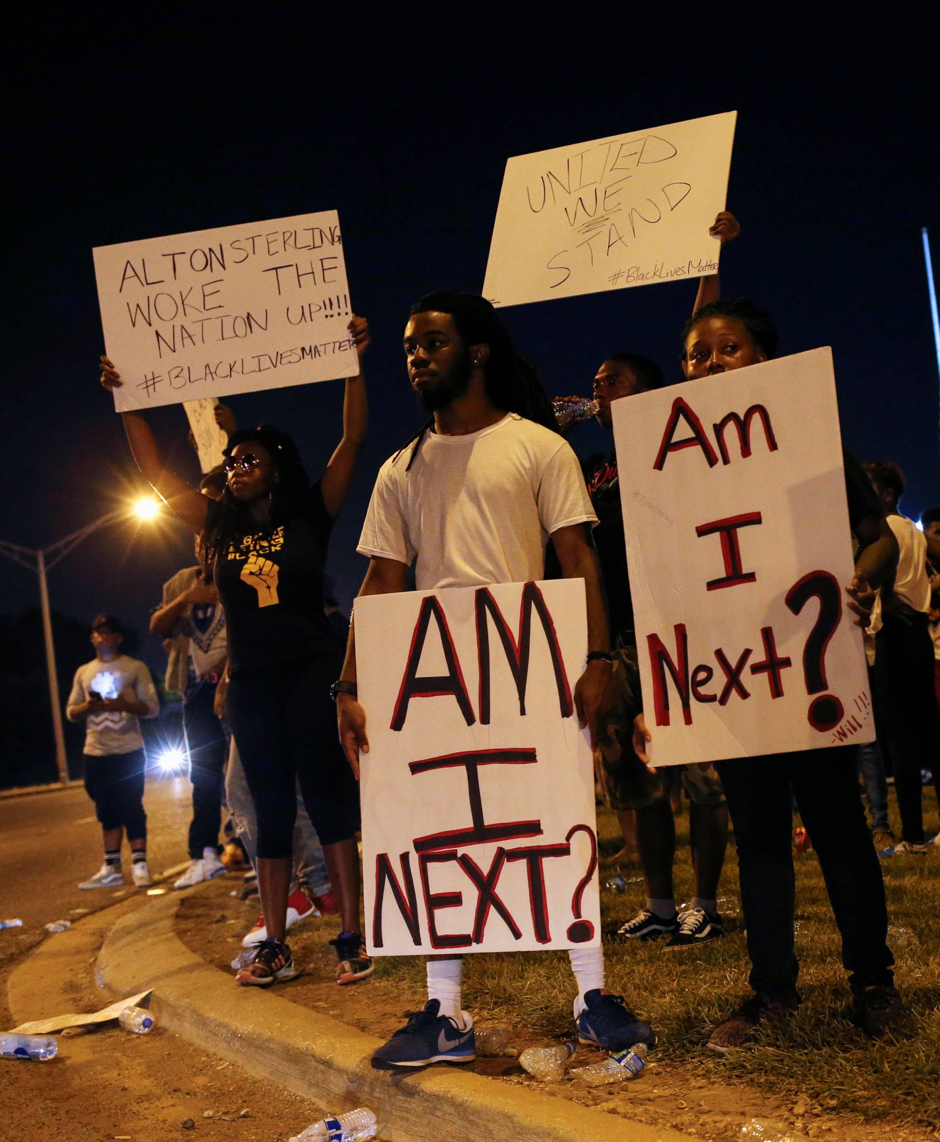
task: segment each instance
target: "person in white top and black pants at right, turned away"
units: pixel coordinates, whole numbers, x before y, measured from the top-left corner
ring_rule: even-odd
[[[930,578],[927,541],[898,510],[905,475],[890,460],[865,465],[871,485],[884,504],[887,524],[900,555],[894,584],[882,588],[871,614],[875,634],[875,685],[879,730],[894,766],[894,791],[901,814],[902,839],[879,856],[924,855],[930,852],[924,833],[922,771],[933,773],[940,802],[940,714],[933,687],[933,641],[930,635]]]

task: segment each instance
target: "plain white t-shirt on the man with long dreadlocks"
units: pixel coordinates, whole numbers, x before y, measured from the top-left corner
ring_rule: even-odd
[[[595,524],[557,433],[514,412],[466,436],[427,433],[379,469],[356,548],[411,565],[418,590],[541,579],[548,537]]]

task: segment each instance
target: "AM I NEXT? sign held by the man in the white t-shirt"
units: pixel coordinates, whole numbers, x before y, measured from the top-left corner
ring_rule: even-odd
[[[373,956],[600,943],[584,581],[356,600]]]

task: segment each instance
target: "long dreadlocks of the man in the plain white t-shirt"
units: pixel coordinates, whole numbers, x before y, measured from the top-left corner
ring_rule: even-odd
[[[433,293],[425,293],[411,306],[409,316],[413,317],[417,313],[450,314],[465,348],[469,345],[489,345],[490,355],[483,365],[483,376],[487,396],[498,409],[516,412],[553,432],[559,431],[552,402],[545,395],[533,365],[519,356],[508,329],[484,297],[452,289],[435,290]],[[433,427],[432,418],[397,453],[401,455],[409,444],[413,445],[405,472],[410,471],[421,442]]]

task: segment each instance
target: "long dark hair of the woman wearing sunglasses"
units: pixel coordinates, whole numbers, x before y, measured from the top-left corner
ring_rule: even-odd
[[[294,437],[286,432],[273,425],[239,428],[228,437],[224,455],[231,456],[236,445],[249,442],[265,449],[278,474],[278,481],[271,491],[271,514],[265,524],[267,531],[274,531],[292,515],[306,509],[310,481]],[[247,505],[235,499],[226,482],[222,499],[210,505],[200,537],[207,565],[214,566],[233,541],[238,542],[243,536],[255,534],[257,531],[257,520],[252,518]]]

